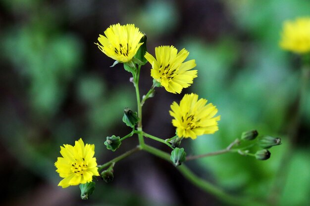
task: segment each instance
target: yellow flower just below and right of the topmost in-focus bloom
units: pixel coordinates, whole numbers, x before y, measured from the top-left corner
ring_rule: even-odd
[[[151,76],[171,93],[181,93],[197,77],[197,70],[189,71],[196,67],[195,60],[183,63],[189,52],[185,48],[177,52],[174,46],[158,46],[155,47],[156,59],[148,52],[145,54],[152,65]]]

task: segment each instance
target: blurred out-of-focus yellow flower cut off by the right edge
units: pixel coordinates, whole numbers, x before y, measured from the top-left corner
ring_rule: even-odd
[[[285,21],[283,24],[280,46],[284,50],[295,53],[310,51],[310,17],[297,18],[295,21]]]

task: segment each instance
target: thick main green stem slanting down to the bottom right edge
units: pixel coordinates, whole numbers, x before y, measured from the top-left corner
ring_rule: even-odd
[[[164,159],[171,163],[170,161],[170,155],[166,152],[163,152],[161,150],[158,150],[152,146],[144,145],[142,150],[147,151],[161,159]],[[187,166],[181,165],[176,167],[183,176],[189,180],[192,184],[199,187],[200,189],[204,190],[207,193],[213,194],[216,196],[219,200],[222,200],[230,205],[236,205],[236,206],[263,206],[263,204],[257,203],[251,199],[241,198],[241,197],[234,197],[227,193],[225,193],[220,188],[210,184],[206,180],[198,177],[196,174],[194,174]]]

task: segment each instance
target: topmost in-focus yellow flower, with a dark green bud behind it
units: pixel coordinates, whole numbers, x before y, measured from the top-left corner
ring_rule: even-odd
[[[134,24],[111,25],[104,31],[104,35],[99,35],[95,43],[98,48],[108,57],[118,62],[129,62],[137,53],[143,43],[139,43],[143,34]]]

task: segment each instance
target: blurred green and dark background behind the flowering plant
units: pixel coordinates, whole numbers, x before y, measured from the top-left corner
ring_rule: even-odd
[[[94,44],[115,23],[144,31],[152,54],[155,46],[175,45],[197,61],[199,76],[191,87],[181,95],[157,88],[147,101],[148,133],[173,136],[169,106],[195,92],[217,106],[221,121],[214,135],[184,140],[187,154],[225,148],[254,128],[283,142],[270,149],[268,161],[224,154],[187,163],[196,174],[231,194],[280,206],[310,205],[310,104],[303,107],[286,157],[301,65],[278,46],[282,22],[305,15],[306,0],[1,0],[0,205],[226,205],[145,152],[117,163],[113,182],[98,179],[88,201],[80,199],[78,187],[57,187],[61,178],[53,164],[60,145],[83,137],[96,145],[102,164],[138,142],[129,138],[115,153],[103,145],[106,136],[130,132],[121,121],[123,109],[136,107],[130,74],[122,65],[109,68],[113,60]],[[150,69],[143,67],[142,93],[152,85]]]

